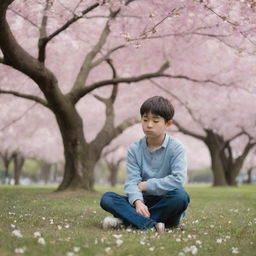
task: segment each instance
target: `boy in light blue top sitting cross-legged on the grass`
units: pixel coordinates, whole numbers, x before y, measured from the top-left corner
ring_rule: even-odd
[[[100,205],[113,217],[103,220],[103,228],[122,224],[145,230],[176,227],[189,204],[183,189],[187,173],[183,146],[166,134],[172,124],[174,108],[161,96],[146,100],[141,108],[141,124],[145,137],[133,143],[127,155],[127,196],[105,193]]]

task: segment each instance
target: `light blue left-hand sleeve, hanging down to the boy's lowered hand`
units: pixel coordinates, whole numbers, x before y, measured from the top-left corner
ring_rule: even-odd
[[[127,154],[127,178],[124,184],[124,192],[128,196],[128,200],[131,205],[133,205],[133,203],[138,199],[144,202],[142,192],[137,185],[141,180],[141,170],[137,163],[135,154],[130,147]]]

